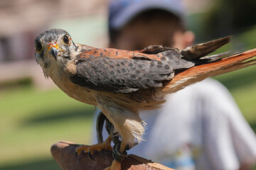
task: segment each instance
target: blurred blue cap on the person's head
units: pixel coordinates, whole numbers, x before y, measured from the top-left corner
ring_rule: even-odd
[[[109,8],[109,27],[122,28],[134,16],[151,9],[169,11],[185,23],[186,14],[181,0],[112,0]]]

